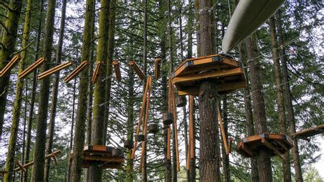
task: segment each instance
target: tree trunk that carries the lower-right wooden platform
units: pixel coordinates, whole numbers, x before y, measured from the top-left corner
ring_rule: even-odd
[[[262,75],[260,60],[258,57],[258,47],[256,36],[253,35],[246,40],[247,59],[249,62],[249,77],[251,79],[252,107],[254,114],[254,126],[257,135],[267,133],[267,118],[265,116],[265,99],[262,93]],[[271,158],[266,148],[260,148],[258,151],[258,174],[260,181],[272,181]]]

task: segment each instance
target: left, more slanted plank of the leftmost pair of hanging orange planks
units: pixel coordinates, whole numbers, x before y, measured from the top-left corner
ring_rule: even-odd
[[[151,77],[149,77],[149,78],[151,78]],[[134,146],[133,146],[131,159],[135,159],[135,151],[136,151],[136,148],[137,148],[137,142],[141,142],[141,141],[144,140],[144,139],[141,140],[141,141],[137,140],[137,139],[139,139],[139,138],[137,138],[137,135],[139,135],[139,132],[141,131],[141,120],[143,119],[143,116],[144,116],[144,109],[145,109],[145,106],[146,106],[146,102],[147,102],[146,100],[148,98],[148,94],[150,94],[150,93],[148,93],[148,91],[149,91],[148,88],[150,86],[150,81],[152,81],[152,79],[147,79],[147,81],[146,81],[146,88],[144,90],[143,101],[141,103],[141,112],[139,112],[139,121],[138,121],[138,124],[137,124],[136,134],[134,136],[135,142],[134,142]],[[143,137],[141,137],[141,138],[143,138]],[[145,136],[144,136],[144,138],[145,138]]]

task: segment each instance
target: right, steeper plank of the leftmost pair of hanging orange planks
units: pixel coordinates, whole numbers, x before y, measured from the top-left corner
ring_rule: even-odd
[[[141,142],[141,161],[139,162],[139,172],[141,172],[141,168],[143,167],[144,162],[144,154],[146,150],[146,135],[147,135],[147,127],[148,127],[148,109],[150,107],[150,95],[151,95],[151,87],[152,87],[152,77],[148,77],[148,99],[146,100],[146,112],[145,112],[145,119],[143,123],[143,134],[144,134],[144,141]]]

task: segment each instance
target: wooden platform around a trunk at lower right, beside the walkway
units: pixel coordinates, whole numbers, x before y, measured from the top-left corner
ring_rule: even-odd
[[[267,148],[271,156],[284,158],[284,153],[293,148],[293,140],[287,135],[262,133],[243,138],[237,144],[237,152],[243,157],[256,157],[260,148]]]

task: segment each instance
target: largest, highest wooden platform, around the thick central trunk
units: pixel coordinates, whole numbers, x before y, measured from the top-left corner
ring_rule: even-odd
[[[241,62],[223,55],[208,55],[185,60],[172,73],[172,81],[178,95],[198,95],[200,83],[213,79],[219,94],[227,94],[245,87],[245,77]]]

